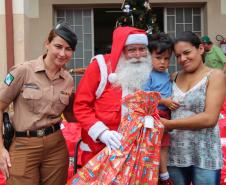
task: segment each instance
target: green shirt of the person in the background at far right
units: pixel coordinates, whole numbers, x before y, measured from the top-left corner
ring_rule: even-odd
[[[213,45],[209,52],[205,53],[205,64],[211,68],[223,69],[226,63],[226,56],[221,48]]]

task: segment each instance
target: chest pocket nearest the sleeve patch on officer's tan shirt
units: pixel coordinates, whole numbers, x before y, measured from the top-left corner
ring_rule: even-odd
[[[42,91],[34,88],[24,88],[22,97],[26,102],[29,110],[34,113],[39,113],[41,109]]]

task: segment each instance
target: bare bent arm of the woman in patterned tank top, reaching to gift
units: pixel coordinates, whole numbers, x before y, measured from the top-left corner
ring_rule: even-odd
[[[168,129],[193,130],[214,127],[217,124],[225,95],[226,81],[224,74],[220,70],[214,70],[208,81],[204,112],[178,120],[166,120],[161,118],[161,121]]]

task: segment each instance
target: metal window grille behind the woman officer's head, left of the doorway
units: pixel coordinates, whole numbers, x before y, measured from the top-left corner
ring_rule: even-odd
[[[56,25],[59,21],[69,23],[78,37],[76,51],[66,68],[73,70],[88,66],[94,55],[93,9],[56,8],[54,24]],[[77,87],[82,74],[72,73],[72,76]]]

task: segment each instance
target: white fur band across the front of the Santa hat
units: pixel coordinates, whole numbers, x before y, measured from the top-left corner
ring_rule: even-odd
[[[144,44],[148,45],[148,37],[145,34],[130,34],[126,40],[125,45],[129,44]]]

